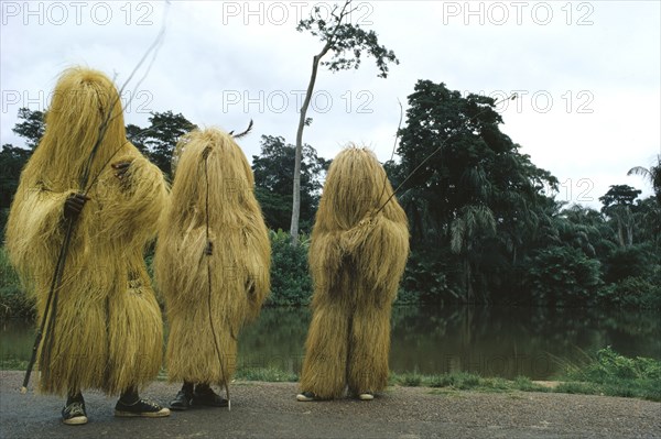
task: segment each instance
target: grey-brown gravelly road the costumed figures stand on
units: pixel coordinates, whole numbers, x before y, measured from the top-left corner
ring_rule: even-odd
[[[433,393],[391,387],[372,402],[295,400],[296,384],[231,386],[231,411],[115,418],[116,399],[85,394],[85,426],[59,421],[59,397],[21,395],[22,372],[0,372],[0,438],[661,438],[661,404],[545,393]],[[143,396],[166,403],[178,386],[154,383]]]

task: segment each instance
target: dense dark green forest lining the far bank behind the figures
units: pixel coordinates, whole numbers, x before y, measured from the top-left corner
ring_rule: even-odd
[[[400,303],[633,306],[661,308],[661,155],[632,169],[654,196],[617,182],[600,210],[555,199],[559,182],[503,134],[494,99],[419,80],[399,131],[398,160],[384,167],[411,231]],[[44,113],[23,108],[13,131],[25,144],[0,152],[3,230],[21,169],[44,132]],[[195,128],[181,113],[153,112],[127,135],[169,179],[177,139]],[[306,249],[330,163],[303,145],[302,239],[288,233],[295,146],[261,136],[252,156],[256,194],[272,229],[272,305],[306,304]],[[149,257],[149,256],[148,256]],[[3,257],[3,261],[6,259]],[[17,288],[2,281],[3,293]]]

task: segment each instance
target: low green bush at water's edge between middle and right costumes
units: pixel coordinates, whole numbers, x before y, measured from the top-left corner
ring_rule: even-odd
[[[312,297],[312,278],[307,270],[310,242],[291,244],[289,233],[279,230],[271,235],[271,294],[267,305],[307,305]]]

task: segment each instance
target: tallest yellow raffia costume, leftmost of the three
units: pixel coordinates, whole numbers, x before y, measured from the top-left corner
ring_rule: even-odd
[[[117,89],[104,74],[72,68],[59,78],[44,136],[11,206],[7,249],[36,296],[41,321],[65,235],[65,200],[87,189],[80,178],[104,121],[107,130],[89,166],[90,199],[75,222],[55,323],[46,329],[51,341],[45,338],[39,351],[43,393],[137,389],[162,362],[162,316],[142,255],[166,187],[161,172],[127,141]],[[130,163],[121,178],[111,166],[119,162]]]

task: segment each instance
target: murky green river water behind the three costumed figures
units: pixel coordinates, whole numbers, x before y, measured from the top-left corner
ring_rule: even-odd
[[[300,372],[310,325],[307,308],[267,308],[243,329],[239,366]],[[1,359],[28,360],[32,322],[0,323]],[[390,367],[435,374],[477,372],[483,376],[533,380],[553,376],[563,362],[581,361],[606,345],[628,356],[661,359],[657,312],[512,307],[395,308]]]

